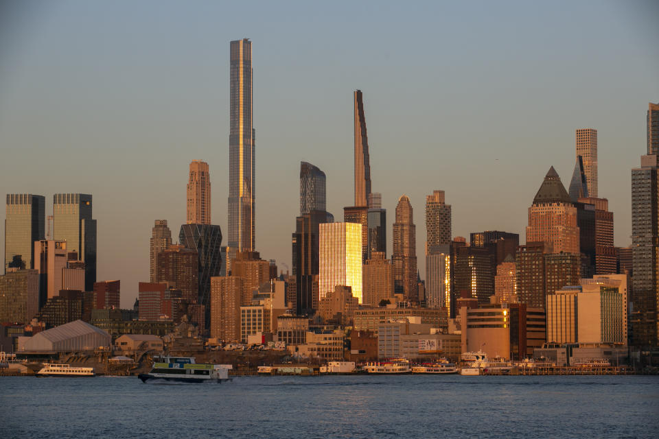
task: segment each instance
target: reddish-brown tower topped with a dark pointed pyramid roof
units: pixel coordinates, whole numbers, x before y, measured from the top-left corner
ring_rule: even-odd
[[[577,208],[552,166],[529,207],[527,242],[547,242],[554,253],[579,254]]]

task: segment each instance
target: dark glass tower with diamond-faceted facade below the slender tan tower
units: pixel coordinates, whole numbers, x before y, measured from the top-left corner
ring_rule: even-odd
[[[199,296],[197,303],[205,306],[206,320],[210,322],[209,300],[211,297],[211,277],[220,274],[222,265],[222,231],[212,224],[183,224],[178,233],[178,242],[197,252],[199,269]]]

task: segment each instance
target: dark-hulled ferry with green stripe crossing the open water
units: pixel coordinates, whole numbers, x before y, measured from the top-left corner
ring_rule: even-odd
[[[149,373],[138,375],[143,383],[178,381],[183,383],[221,383],[228,381],[230,364],[198,364],[194,357],[159,357]]]

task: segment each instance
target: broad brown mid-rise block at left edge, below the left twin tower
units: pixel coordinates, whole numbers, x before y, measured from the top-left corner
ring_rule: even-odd
[[[38,270],[10,268],[0,276],[0,323],[28,323],[38,311]]]

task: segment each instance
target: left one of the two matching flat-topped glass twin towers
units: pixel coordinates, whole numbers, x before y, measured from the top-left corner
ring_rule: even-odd
[[[5,271],[8,268],[34,268],[34,241],[45,237],[45,204],[43,195],[7,194]]]

